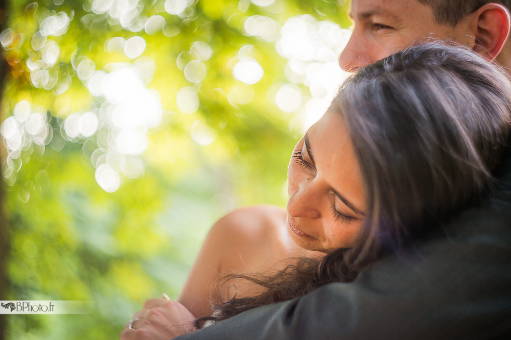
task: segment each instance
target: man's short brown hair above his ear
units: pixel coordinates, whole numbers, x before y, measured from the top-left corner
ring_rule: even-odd
[[[511,11],[511,0],[418,0],[433,10],[438,23],[455,26],[467,14],[486,4],[501,4]]]

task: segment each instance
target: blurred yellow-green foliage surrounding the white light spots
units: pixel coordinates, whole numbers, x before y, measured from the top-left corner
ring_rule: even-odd
[[[125,27],[108,13],[95,13],[94,3],[134,4],[136,18],[161,15],[165,23],[156,31]],[[268,89],[289,83],[287,60],[277,54],[274,41],[247,34],[243,22],[264,15],[282,26],[308,13],[348,27],[348,5],[335,0],[276,0],[266,7],[248,0],[185,3],[188,12],[175,15],[168,13],[164,0],[10,2],[11,31],[2,36],[8,69],[1,120],[26,100],[32,108],[43,108],[53,139],[42,145],[25,143],[19,155],[2,160],[9,210],[7,298],[87,300],[91,308],[83,315],[10,315],[8,339],[117,338],[144,300],[163,292],[177,297],[202,239],[220,216],[238,206],[285,205],[286,166],[300,132],[290,126],[295,113],[278,109]],[[54,63],[41,68],[50,80],[37,85],[29,59],[44,56],[43,49],[34,49],[33,37],[41,21],[58,12],[66,13],[69,24],[63,34],[48,36],[60,50]],[[146,42],[140,57],[107,48],[113,37],[135,36]],[[213,55],[203,61],[205,78],[193,83],[184,76],[178,56],[196,41],[211,46]],[[254,85],[233,77],[243,46],[264,69]],[[149,143],[140,156],[144,173],[135,178],[121,174],[119,188],[111,193],[98,185],[97,164],[91,160],[91,150],[106,148],[100,137],[107,128],[100,123],[90,138],[65,135],[63,122],[69,114],[98,109],[105,102],[91,95],[78,76],[73,64],[77,56],[94,61],[96,70],[143,58],[155,65],[147,87],[157,90],[163,111],[161,123],[147,131]],[[52,75],[58,77],[53,87],[48,85]],[[67,88],[59,83],[68,80]],[[253,99],[247,104],[229,100],[235,85],[253,93]],[[298,85],[307,93],[306,86]],[[196,112],[179,110],[176,93],[183,87],[197,92]],[[198,121],[215,136],[213,142],[201,145],[192,138]]]

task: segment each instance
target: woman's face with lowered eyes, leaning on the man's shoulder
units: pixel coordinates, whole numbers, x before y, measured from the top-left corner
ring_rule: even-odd
[[[331,109],[296,145],[288,167],[287,226],[296,244],[350,248],[362,227],[362,177],[342,115]]]

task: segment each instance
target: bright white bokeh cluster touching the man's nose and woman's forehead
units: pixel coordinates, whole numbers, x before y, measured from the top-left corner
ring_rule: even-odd
[[[296,108],[289,98],[297,99],[298,92],[293,94],[291,87],[282,87],[275,96],[275,104],[284,112],[298,112],[301,132],[305,132],[327,110],[349,76],[339,67],[337,58],[350,40],[351,31],[306,14],[286,20],[280,33],[275,48],[288,59],[285,75],[290,83],[308,87],[311,98],[305,100],[300,95],[301,106]]]

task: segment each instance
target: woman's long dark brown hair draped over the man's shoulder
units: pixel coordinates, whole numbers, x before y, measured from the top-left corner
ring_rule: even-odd
[[[344,82],[331,108],[345,119],[364,183],[366,213],[355,246],[297,259],[267,277],[229,276],[223,283],[245,279],[261,293],[219,299],[197,327],[355,280],[477,204],[508,150],[511,83],[462,47],[430,42],[365,66]]]

